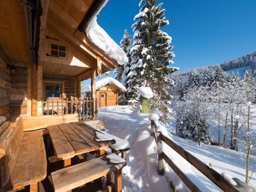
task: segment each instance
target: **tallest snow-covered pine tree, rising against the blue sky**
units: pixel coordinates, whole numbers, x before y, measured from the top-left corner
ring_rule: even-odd
[[[136,88],[148,85],[154,93],[154,107],[167,112],[165,104],[171,99],[167,89],[173,86],[169,75],[176,70],[169,65],[174,53],[170,52],[172,38],[160,28],[169,24],[165,9],[157,0],[141,0],[140,12],[132,25],[134,32],[131,48],[131,67],[127,75],[129,97],[137,95]],[[157,102],[156,102],[157,101]],[[161,101],[161,102],[159,102]]]

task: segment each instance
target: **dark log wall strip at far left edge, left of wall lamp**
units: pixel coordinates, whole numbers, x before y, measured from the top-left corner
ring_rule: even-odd
[[[7,64],[0,59],[0,118],[10,119],[11,75]]]

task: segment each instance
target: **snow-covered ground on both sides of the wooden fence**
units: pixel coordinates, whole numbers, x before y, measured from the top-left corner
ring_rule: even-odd
[[[157,174],[157,145],[150,134],[148,115],[134,115],[128,106],[115,106],[100,108],[99,119],[104,121],[108,133],[126,139],[131,145],[127,153],[127,166],[123,169],[124,191],[170,191],[170,181],[176,185],[177,191],[187,191],[184,184],[166,164],[165,177]],[[164,132],[167,130],[168,136],[189,153],[206,164],[211,163],[211,167],[217,172],[225,172],[244,180],[245,153],[212,145],[199,147],[195,142],[176,137],[171,126],[162,129]],[[201,191],[221,191],[170,147],[164,145],[164,150]],[[256,156],[252,155],[251,171],[255,164]],[[256,173],[252,175],[250,184],[256,188]]]

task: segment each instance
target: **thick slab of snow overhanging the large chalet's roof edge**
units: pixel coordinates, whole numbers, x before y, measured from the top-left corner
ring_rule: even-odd
[[[98,25],[97,17],[91,20],[85,32],[91,42],[104,50],[105,53],[110,56],[110,58],[115,59],[118,64],[122,65],[128,62],[128,58],[124,53],[124,50],[122,50],[121,47],[111,39],[108,33]]]

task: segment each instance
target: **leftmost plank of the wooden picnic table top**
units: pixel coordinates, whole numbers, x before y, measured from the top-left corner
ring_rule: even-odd
[[[50,139],[53,142],[53,147],[58,158],[71,158],[75,155],[75,150],[70,145],[67,138],[61,132],[58,126],[47,127],[50,134]]]

